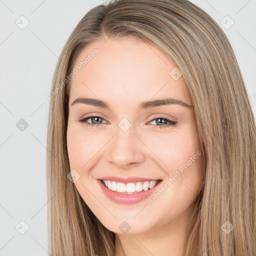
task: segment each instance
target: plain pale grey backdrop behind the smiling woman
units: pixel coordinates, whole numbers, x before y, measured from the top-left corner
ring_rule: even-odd
[[[229,38],[255,116],[256,1],[192,2]],[[0,256],[48,255],[46,94],[69,34],[101,3],[0,0]]]

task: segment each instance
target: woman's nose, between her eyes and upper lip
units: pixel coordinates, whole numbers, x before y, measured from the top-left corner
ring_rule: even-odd
[[[133,133],[132,126],[123,131],[119,127],[115,136],[109,141],[108,162],[119,168],[129,168],[143,162],[143,143]]]

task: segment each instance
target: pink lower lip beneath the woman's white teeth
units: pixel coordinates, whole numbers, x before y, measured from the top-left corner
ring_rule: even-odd
[[[145,198],[149,197],[159,186],[162,180],[158,182],[155,186],[153,186],[150,189],[147,189],[146,191],[142,190],[140,192],[136,192],[133,194],[123,194],[118,193],[116,191],[108,189],[100,179],[97,180],[99,182],[99,185],[104,192],[104,194],[113,202],[119,203],[119,204],[133,204],[140,202],[144,200]]]

